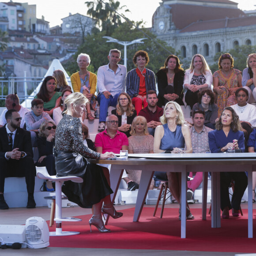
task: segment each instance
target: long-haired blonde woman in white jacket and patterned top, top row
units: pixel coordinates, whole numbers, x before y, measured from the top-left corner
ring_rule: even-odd
[[[189,69],[184,76],[184,105],[190,105],[191,109],[197,103],[199,90],[211,89],[212,73],[203,55],[196,54],[192,57]]]

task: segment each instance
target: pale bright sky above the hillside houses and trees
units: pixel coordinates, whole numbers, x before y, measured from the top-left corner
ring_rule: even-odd
[[[7,0],[5,0],[7,2]],[[41,19],[44,15],[45,20],[49,21],[50,27],[60,25],[62,18],[71,14],[80,13],[87,15],[87,6],[84,4],[87,0],[13,0],[19,3],[29,3],[37,5],[37,18]],[[89,1],[89,0],[88,0]],[[103,0],[108,2],[108,0]],[[161,0],[119,0],[120,5],[126,5],[131,13],[125,13],[128,19],[134,21],[143,20],[146,27],[151,27],[152,16],[159,6]],[[255,10],[255,0],[233,0],[238,3],[241,10]]]

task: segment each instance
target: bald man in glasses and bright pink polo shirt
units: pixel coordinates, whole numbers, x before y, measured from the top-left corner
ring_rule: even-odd
[[[120,150],[128,150],[128,138],[123,132],[117,131],[118,118],[116,115],[109,115],[106,118],[106,129],[103,132],[99,132],[95,137],[95,148],[98,153],[105,153],[111,151],[115,154],[119,154]],[[124,181],[128,184],[128,190],[135,190],[139,188],[139,185],[131,181],[127,174],[123,174]]]

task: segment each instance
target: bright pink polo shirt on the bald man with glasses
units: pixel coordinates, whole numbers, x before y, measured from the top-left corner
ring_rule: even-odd
[[[113,152],[119,154],[122,146],[129,145],[128,138],[123,132],[117,131],[116,136],[112,139],[108,133],[107,129],[96,135],[94,141],[95,147],[102,147],[102,154],[105,152]]]

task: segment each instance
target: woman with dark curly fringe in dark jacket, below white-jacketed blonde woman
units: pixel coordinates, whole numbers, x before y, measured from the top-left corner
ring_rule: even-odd
[[[212,90],[204,89],[198,93],[198,103],[193,105],[193,110],[203,109],[205,113],[204,125],[215,129],[215,120],[218,117],[218,106],[214,103],[215,95]]]

